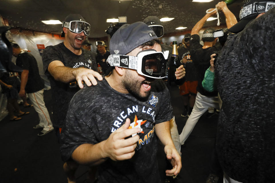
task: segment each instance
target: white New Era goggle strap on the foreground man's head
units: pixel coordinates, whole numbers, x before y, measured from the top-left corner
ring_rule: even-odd
[[[107,63],[109,63],[110,66],[124,67],[135,70],[137,70],[137,61],[138,57],[129,55],[110,55],[107,59]]]

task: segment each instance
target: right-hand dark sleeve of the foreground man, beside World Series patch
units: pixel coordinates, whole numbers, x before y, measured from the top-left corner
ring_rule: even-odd
[[[171,100],[170,100],[169,90],[167,89],[166,86],[164,87],[164,90],[162,92],[162,98],[160,100],[159,105],[160,105],[160,111],[156,118],[156,124],[169,121],[174,116],[172,105],[171,105]]]

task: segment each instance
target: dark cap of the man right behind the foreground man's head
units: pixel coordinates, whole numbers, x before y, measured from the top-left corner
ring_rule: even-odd
[[[148,25],[158,37],[163,36],[163,26],[161,24],[161,21],[156,16],[148,16],[143,20],[146,25]]]

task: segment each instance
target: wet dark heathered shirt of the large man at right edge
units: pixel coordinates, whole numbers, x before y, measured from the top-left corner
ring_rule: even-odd
[[[239,182],[275,180],[275,9],[227,39],[215,73],[223,101],[217,154]]]

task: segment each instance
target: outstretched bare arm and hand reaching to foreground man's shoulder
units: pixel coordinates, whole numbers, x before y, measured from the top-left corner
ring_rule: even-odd
[[[82,81],[85,81],[85,83],[88,86],[91,86],[92,84],[97,85],[97,81],[95,77],[98,80],[103,79],[102,76],[96,71],[93,71],[87,68],[82,68],[82,67],[79,67],[79,68],[66,67],[59,60],[52,61],[48,65],[48,71],[57,81],[68,83],[76,79],[80,88],[84,87],[84,85],[82,84]]]

